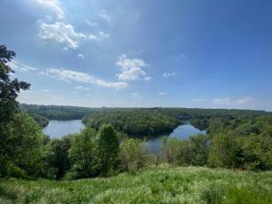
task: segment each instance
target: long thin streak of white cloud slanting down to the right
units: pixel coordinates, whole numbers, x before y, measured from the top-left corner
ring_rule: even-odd
[[[72,70],[65,69],[47,69],[45,72],[41,72],[41,74],[60,79],[66,82],[79,82],[79,83],[92,83],[93,85],[102,86],[102,87],[112,87],[112,88],[126,88],[128,86],[127,83],[123,82],[108,82],[104,81],[98,77],[94,77],[89,75],[88,73],[78,73]]]

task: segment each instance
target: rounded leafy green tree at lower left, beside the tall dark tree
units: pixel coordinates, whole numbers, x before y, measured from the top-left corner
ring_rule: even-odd
[[[15,114],[5,126],[5,143],[1,143],[1,176],[40,177],[44,175],[43,132],[39,125],[24,112]]]

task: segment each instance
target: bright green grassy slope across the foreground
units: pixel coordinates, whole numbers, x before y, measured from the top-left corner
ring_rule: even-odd
[[[0,180],[0,203],[272,203],[272,172],[150,168],[102,179]]]

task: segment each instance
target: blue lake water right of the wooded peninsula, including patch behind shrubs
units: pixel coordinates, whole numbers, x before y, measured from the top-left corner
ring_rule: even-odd
[[[192,126],[189,121],[184,122],[179,127],[177,127],[174,131],[172,131],[169,135],[170,138],[178,138],[178,139],[188,139],[189,135],[192,134],[206,134],[206,131],[200,131],[199,129]],[[160,151],[160,140],[161,137],[152,138],[146,141],[146,147],[149,151]]]

